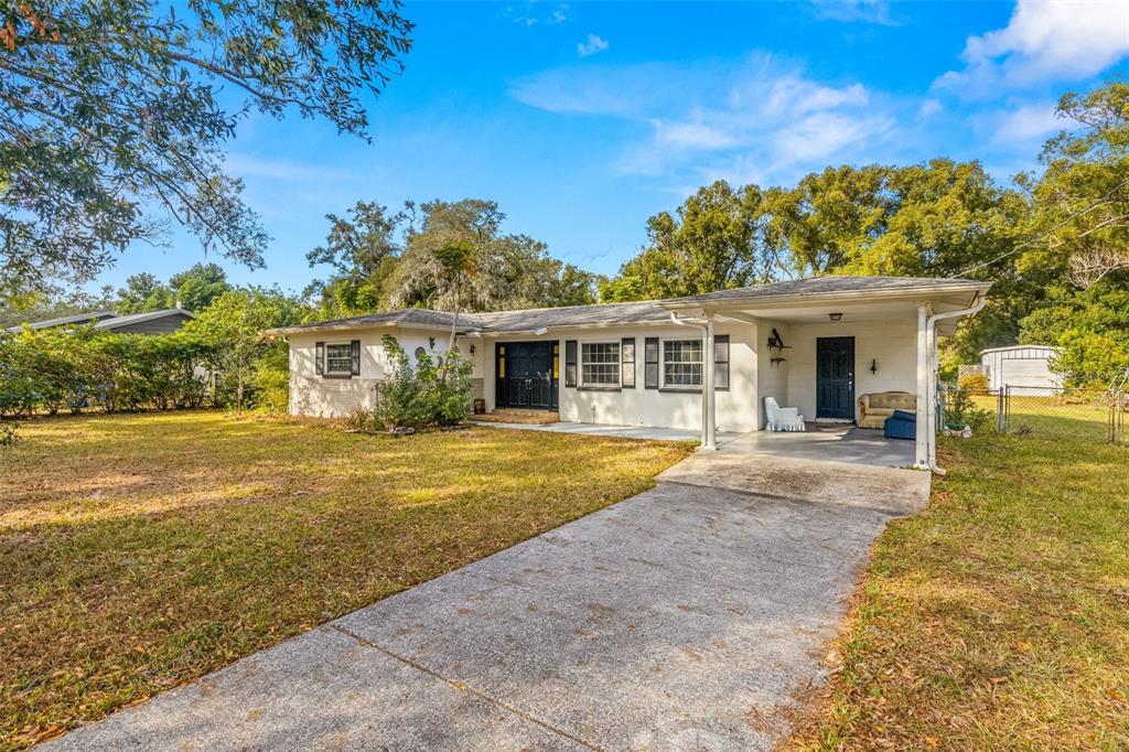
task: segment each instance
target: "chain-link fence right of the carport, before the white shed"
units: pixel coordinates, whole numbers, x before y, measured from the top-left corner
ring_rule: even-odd
[[[1129,443],[1127,391],[1004,386],[991,393],[944,386],[938,399],[942,431],[961,432],[970,427],[973,431]]]

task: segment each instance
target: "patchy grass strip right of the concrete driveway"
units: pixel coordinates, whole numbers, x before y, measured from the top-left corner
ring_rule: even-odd
[[[944,445],[879,537],[838,674],[793,746],[1129,749],[1129,451]]]

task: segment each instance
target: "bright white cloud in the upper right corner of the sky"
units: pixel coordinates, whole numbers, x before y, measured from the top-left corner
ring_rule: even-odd
[[[1094,76],[1129,54],[1124,0],[1019,0],[1005,28],[970,36],[965,68],[934,86],[970,97]]]

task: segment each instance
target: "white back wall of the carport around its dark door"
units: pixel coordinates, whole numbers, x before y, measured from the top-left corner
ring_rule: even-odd
[[[907,317],[908,318],[908,317]],[[782,332],[781,332],[782,333]],[[855,338],[855,417],[858,399],[870,392],[917,392],[917,322],[838,322],[794,324],[785,335],[788,359],[788,404],[815,420],[815,340]],[[870,373],[870,361],[877,373]]]

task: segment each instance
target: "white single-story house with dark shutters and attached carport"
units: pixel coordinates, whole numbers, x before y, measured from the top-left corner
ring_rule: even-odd
[[[936,336],[983,306],[966,279],[817,277],[707,295],[463,314],[457,342],[487,411],[534,409],[613,426],[764,427],[764,397],[807,420],[855,421],[866,393],[916,394],[917,466],[933,466]],[[380,340],[443,352],[454,316],[411,308],[266,332],[290,344],[290,411],[375,404]]]

